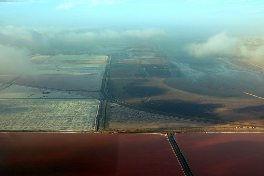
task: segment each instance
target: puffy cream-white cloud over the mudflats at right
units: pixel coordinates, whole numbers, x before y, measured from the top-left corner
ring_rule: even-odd
[[[218,56],[233,51],[240,51],[240,54],[254,59],[264,59],[264,45],[256,50],[249,50],[247,46],[242,44],[238,38],[227,36],[226,32],[221,32],[215,36],[209,37],[203,43],[191,43],[185,46],[185,50],[190,55],[201,58],[204,56]]]

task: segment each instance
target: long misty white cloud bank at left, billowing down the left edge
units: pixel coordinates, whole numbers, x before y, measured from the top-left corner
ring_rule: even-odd
[[[29,28],[0,26],[0,74],[29,74],[30,54],[59,54],[89,46],[165,35],[160,29],[112,30],[106,28]]]

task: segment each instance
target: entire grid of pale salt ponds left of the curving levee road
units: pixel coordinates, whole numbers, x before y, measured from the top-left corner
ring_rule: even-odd
[[[107,58],[33,55],[30,75],[0,75],[0,130],[94,130]]]

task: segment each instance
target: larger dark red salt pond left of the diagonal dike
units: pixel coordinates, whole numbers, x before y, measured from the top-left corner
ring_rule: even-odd
[[[0,175],[184,175],[166,136],[0,133]]]

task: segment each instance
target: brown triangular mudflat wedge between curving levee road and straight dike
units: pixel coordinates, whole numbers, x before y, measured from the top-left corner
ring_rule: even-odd
[[[102,130],[228,129],[234,126],[204,123],[139,111],[107,103]]]

